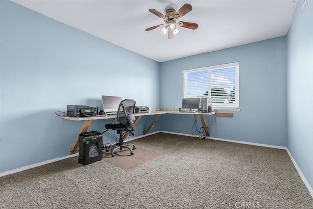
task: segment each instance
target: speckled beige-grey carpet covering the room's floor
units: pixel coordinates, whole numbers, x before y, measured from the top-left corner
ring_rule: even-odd
[[[286,150],[167,133],[132,142],[126,157],[139,148],[162,155],[131,171],[74,156],[3,176],[0,208],[313,209]]]

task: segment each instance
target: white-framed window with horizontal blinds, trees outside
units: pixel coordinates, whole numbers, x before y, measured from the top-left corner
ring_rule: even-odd
[[[208,96],[212,108],[239,109],[239,62],[182,71],[183,97]]]

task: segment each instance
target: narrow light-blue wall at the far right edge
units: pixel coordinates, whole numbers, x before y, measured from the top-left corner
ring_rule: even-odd
[[[287,147],[313,188],[313,2],[298,3],[287,35]]]

